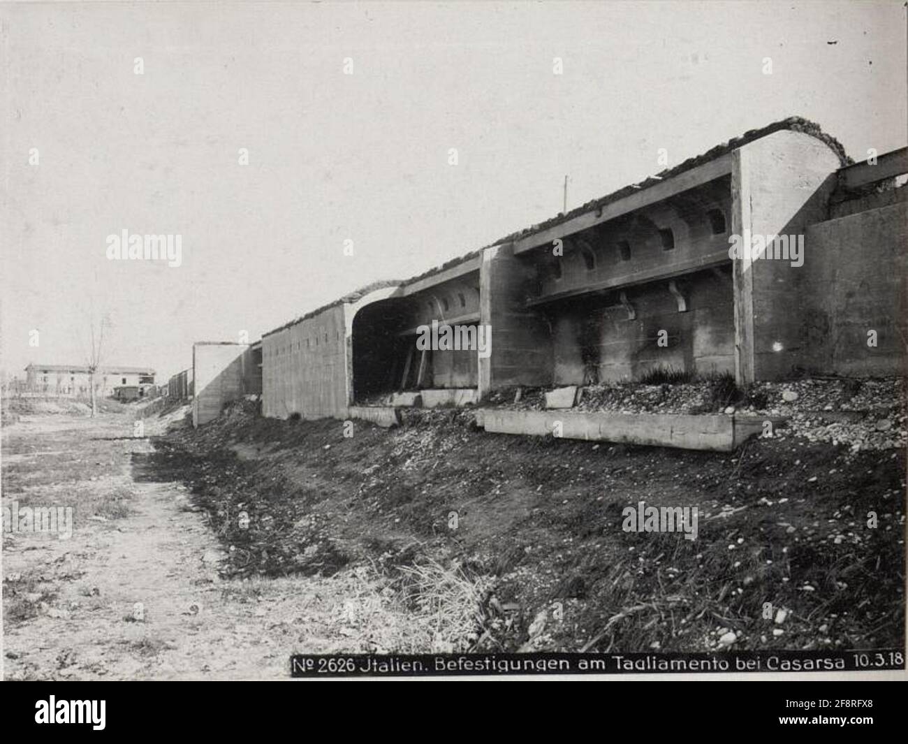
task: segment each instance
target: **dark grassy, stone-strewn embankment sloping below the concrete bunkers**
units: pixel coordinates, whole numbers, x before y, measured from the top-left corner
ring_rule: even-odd
[[[447,581],[451,601],[479,605],[453,613],[459,650],[903,647],[903,450],[679,451],[471,419],[412,412],[345,437],[343,422],[262,419],[246,402],[173,430],[155,457],[209,514],[226,573],[370,570],[414,608],[449,607]],[[623,531],[639,501],[696,506],[696,540]],[[413,580],[428,566],[447,570],[434,590]]]

